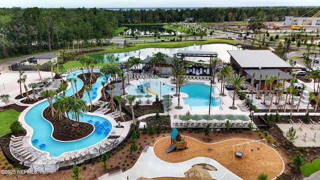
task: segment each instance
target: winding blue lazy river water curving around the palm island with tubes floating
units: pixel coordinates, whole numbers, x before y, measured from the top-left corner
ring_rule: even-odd
[[[79,73],[82,73],[82,72],[75,72],[76,75]],[[69,74],[67,78],[70,78],[70,77],[76,78],[76,75]],[[90,91],[91,100],[94,99],[92,98],[92,96],[94,96],[93,92],[96,92],[95,88],[101,85],[101,80],[103,80],[102,76],[99,77],[97,79],[97,82],[92,85],[93,90]],[[76,83],[77,83],[77,89],[79,90],[82,87],[83,82],[80,79],[78,79]],[[70,87],[65,92],[65,94],[68,96],[72,95],[72,93],[73,93],[72,87]],[[85,100],[87,103],[89,102],[89,98],[86,92],[84,93],[84,96],[82,99]],[[88,120],[91,120],[91,123],[93,125],[95,121],[98,121],[100,124],[104,124],[103,125],[104,129],[102,129],[102,127],[100,126],[102,133],[98,133],[98,131],[94,131],[93,133],[91,133],[90,135],[88,135],[83,139],[70,141],[70,142],[61,142],[61,141],[54,140],[51,137],[51,133],[52,133],[51,123],[49,123],[42,117],[42,111],[48,105],[49,103],[47,100],[36,104],[26,112],[24,119],[25,119],[25,122],[29,126],[31,126],[33,129],[33,134],[30,139],[31,144],[37,149],[48,152],[49,155],[51,156],[60,156],[62,153],[67,151],[74,151],[74,150],[78,150],[78,149],[82,149],[82,148],[94,145],[95,143],[103,140],[108,135],[108,133],[104,133],[105,131],[104,129],[107,129],[107,128],[111,129],[112,127],[112,124],[103,117],[82,113],[83,116],[79,117],[79,121],[87,122]],[[35,140],[36,142],[32,142],[34,139],[38,139],[38,141]],[[40,144],[45,144],[45,146],[39,147]]]

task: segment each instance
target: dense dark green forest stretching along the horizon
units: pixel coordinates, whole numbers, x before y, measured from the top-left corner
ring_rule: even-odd
[[[198,9],[129,9],[103,8],[0,8],[0,58],[76,46],[91,46],[115,35],[121,24],[169,23],[194,17],[194,22],[246,21],[258,17],[265,21],[283,21],[301,16],[305,7],[234,7]],[[314,10],[305,16],[312,16]],[[76,43],[75,43],[76,42]]]

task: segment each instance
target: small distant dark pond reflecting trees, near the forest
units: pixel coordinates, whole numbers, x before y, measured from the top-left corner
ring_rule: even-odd
[[[173,35],[173,31],[170,29],[165,29],[162,25],[129,25],[128,28],[124,29],[119,35],[131,35],[132,32],[138,36],[146,35],[153,36],[154,33],[159,33],[161,35]],[[180,34],[180,32],[175,32]]]

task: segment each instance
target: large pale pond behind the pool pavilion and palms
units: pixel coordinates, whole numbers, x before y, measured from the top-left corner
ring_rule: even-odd
[[[119,60],[121,61],[122,58],[126,56],[138,56],[140,53],[140,58],[143,60],[147,56],[152,56],[152,53],[156,52],[162,52],[167,54],[168,56],[171,56],[174,53],[177,53],[179,51],[213,51],[218,53],[218,58],[224,60],[225,62],[229,62],[230,54],[227,52],[227,50],[236,50],[237,47],[230,44],[204,44],[204,45],[192,45],[187,47],[178,47],[178,48],[144,48],[129,52],[122,52],[122,53],[100,53],[100,54],[92,54],[91,57],[94,57],[97,59],[98,63],[109,63],[110,59],[112,59],[112,62],[116,62],[115,58],[119,57]],[[242,49],[241,49],[242,50]],[[201,58],[201,57],[187,57],[186,60],[196,62],[198,60],[209,60],[209,58]]]

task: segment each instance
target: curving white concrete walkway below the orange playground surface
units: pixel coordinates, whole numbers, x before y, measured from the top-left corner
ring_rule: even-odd
[[[153,146],[150,146],[147,152],[142,152],[137,162],[132,168],[125,172],[118,172],[109,175],[108,173],[98,177],[98,179],[137,179],[140,176],[154,178],[154,177],[185,177],[184,172],[191,168],[192,165],[198,163],[207,163],[215,168],[216,171],[208,170],[212,178],[227,180],[227,179],[242,179],[233,172],[222,166],[216,160],[207,157],[195,157],[183,162],[170,163],[165,162],[155,156]]]

